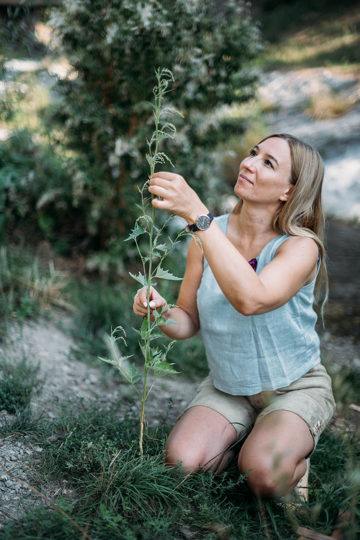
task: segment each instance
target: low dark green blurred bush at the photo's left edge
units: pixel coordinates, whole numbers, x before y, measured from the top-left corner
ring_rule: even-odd
[[[64,161],[30,130],[15,132],[0,145],[0,234],[22,225],[55,243],[57,232],[76,234],[84,214],[72,211],[72,185]],[[58,250],[60,251],[60,250]],[[64,248],[63,248],[64,251]]]

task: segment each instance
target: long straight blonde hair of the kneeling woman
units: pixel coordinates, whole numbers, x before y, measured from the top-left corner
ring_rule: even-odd
[[[324,249],[325,215],[321,203],[321,190],[324,179],[323,160],[315,149],[308,143],[289,135],[288,133],[275,133],[270,137],[279,137],[288,142],[291,154],[290,184],[295,187],[287,201],[281,204],[274,215],[274,229],[279,234],[309,237],[315,240],[321,255],[320,270],[315,283],[315,298],[318,300],[322,288],[325,289],[321,305],[323,319],[324,307],[329,296],[329,282]],[[259,144],[260,144],[259,143]],[[241,211],[243,201],[240,199],[233,213]]]

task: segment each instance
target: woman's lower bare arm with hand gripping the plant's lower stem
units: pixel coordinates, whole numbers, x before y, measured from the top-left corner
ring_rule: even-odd
[[[196,291],[200,286],[202,270],[201,249],[194,240],[191,240],[184,280],[181,282],[179,298],[176,301],[177,307],[168,308],[163,313],[165,319],[174,319],[179,324],[159,326],[160,330],[169,338],[191,338],[200,328],[198,307],[196,306]],[[145,307],[146,288],[139,289],[138,293],[139,296],[134,301],[133,310],[136,315],[145,317],[147,316],[147,307]],[[166,300],[153,287],[151,287],[150,299],[150,307],[153,309],[159,309],[160,306],[166,306],[167,304]],[[151,320],[154,320],[154,318],[152,317]]]

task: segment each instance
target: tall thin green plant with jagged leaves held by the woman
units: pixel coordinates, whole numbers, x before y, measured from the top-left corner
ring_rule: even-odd
[[[150,204],[150,201],[153,199],[154,195],[148,193],[147,186],[149,184],[149,181],[152,177],[152,175],[155,172],[155,165],[158,164],[164,164],[166,161],[169,161],[169,163],[172,165],[171,160],[166,156],[164,152],[159,152],[159,142],[161,139],[165,138],[174,138],[176,128],[174,124],[167,121],[167,117],[169,114],[177,113],[180,114],[176,109],[173,107],[162,107],[162,101],[164,99],[164,96],[169,90],[167,90],[169,82],[173,81],[173,74],[168,69],[162,69],[158,68],[158,70],[155,70],[158,84],[153,89],[154,94],[154,103],[151,104],[153,108],[153,114],[154,114],[154,122],[155,122],[155,131],[152,134],[152,137],[150,140],[146,140],[147,146],[148,146],[148,153],[146,154],[146,159],[148,161],[148,164],[150,165],[150,173],[148,175],[148,179],[146,180],[145,184],[142,186],[142,188],[139,188],[139,192],[141,194],[141,204],[137,205],[137,207],[140,209],[140,216],[135,221],[135,227],[133,228],[132,232],[128,236],[128,238],[125,240],[133,240],[137,246],[141,262],[142,262],[142,268],[143,268],[143,274],[139,272],[137,275],[134,275],[130,273],[132,278],[136,281],[138,281],[142,286],[147,288],[147,316],[144,317],[144,321],[142,322],[142,325],[139,330],[133,328],[135,332],[137,332],[140,335],[140,349],[142,352],[142,355],[144,356],[144,384],[142,387],[142,391],[139,391],[137,386],[135,384],[140,380],[140,375],[135,368],[135,364],[132,363],[131,366],[127,367],[126,369],[123,369],[122,363],[127,358],[130,358],[130,356],[122,356],[118,357],[117,352],[114,348],[114,343],[117,340],[123,340],[125,343],[125,330],[123,327],[118,326],[114,330],[111,330],[111,345],[113,347],[114,351],[114,357],[115,360],[110,358],[101,358],[99,356],[100,360],[103,360],[104,362],[111,363],[112,365],[116,366],[120,372],[126,377],[126,379],[133,385],[135,390],[137,391],[140,400],[141,400],[141,417],[140,417],[140,437],[139,437],[139,446],[140,446],[140,454],[143,455],[142,451],[142,434],[144,429],[144,415],[145,415],[145,402],[147,399],[147,396],[149,395],[152,387],[154,386],[155,381],[159,377],[163,377],[169,373],[179,373],[176,372],[173,369],[173,364],[168,363],[166,361],[166,355],[169,352],[169,350],[172,348],[174,341],[169,343],[166,347],[163,349],[160,349],[159,347],[152,347],[151,342],[155,339],[159,339],[162,335],[161,332],[157,330],[158,325],[164,325],[164,318],[161,315],[161,312],[163,311],[163,308],[161,308],[159,311],[154,310],[154,321],[150,320],[151,317],[151,311],[153,311],[150,308],[150,287],[153,285],[156,285],[156,283],[153,281],[154,278],[157,279],[171,279],[171,280],[181,280],[182,278],[176,278],[174,275],[170,274],[167,270],[161,267],[162,261],[164,261],[166,255],[168,255],[175,247],[176,244],[179,242],[179,238],[181,236],[189,235],[193,236],[192,233],[186,233],[185,230],[181,230],[178,232],[175,240],[172,240],[169,238],[170,245],[162,244],[160,241],[162,232],[164,231],[164,228],[168,224],[168,222],[172,219],[176,219],[175,215],[170,215],[166,220],[164,225],[162,227],[158,228],[155,226],[155,207],[152,206],[152,214],[149,215],[147,213],[147,207]],[[143,255],[140,251],[139,244],[138,244],[138,238],[142,234],[148,235],[149,240],[149,251],[147,252],[146,256]],[[177,324],[174,319],[167,319],[166,325],[174,325]],[[117,333],[123,333],[123,335],[117,335]],[[125,336],[126,337],[126,336]],[[125,343],[126,345],[126,343]],[[152,386],[150,389],[146,388],[146,382],[147,377],[150,374],[150,372],[153,372],[154,381],[152,383]]]

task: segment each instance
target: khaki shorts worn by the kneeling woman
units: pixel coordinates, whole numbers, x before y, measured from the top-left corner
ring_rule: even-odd
[[[331,379],[321,363],[289,386],[264,390],[252,396],[232,396],[221,392],[214,387],[212,378],[207,376],[201,382],[193,401],[182,411],[179,418],[195,405],[209,407],[224,416],[236,429],[238,441],[246,437],[263,416],[274,410],[289,410],[308,424],[314,437],[314,448],[309,456],[313,454],[317,441],[336,407]]]

